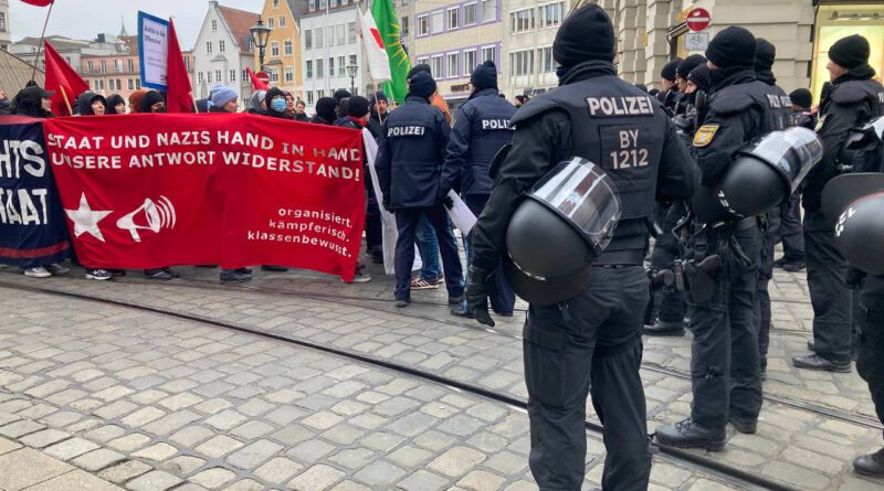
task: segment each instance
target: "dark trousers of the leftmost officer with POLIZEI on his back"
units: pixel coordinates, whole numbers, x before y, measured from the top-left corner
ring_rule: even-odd
[[[457,254],[457,243],[449,226],[449,217],[442,205],[428,209],[402,209],[396,211],[396,227],[399,238],[396,241],[396,299],[411,300],[411,266],[414,263],[414,234],[421,215],[425,214],[433,225],[442,253],[442,267],[445,270],[445,287],[449,297],[463,295],[463,267]]]

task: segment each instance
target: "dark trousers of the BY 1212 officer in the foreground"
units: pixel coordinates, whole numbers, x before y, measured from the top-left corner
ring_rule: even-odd
[[[651,455],[639,376],[648,288],[641,266],[593,267],[592,284],[577,297],[529,308],[523,342],[528,463],[541,490],[582,485],[588,394],[604,425],[602,489],[648,489]]]

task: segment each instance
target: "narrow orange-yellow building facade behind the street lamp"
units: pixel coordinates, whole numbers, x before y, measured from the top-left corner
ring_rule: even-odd
[[[297,0],[265,0],[261,17],[271,29],[264,50],[262,70],[270,75],[270,85],[304,98],[301,56],[301,2]],[[257,50],[255,50],[256,52]],[[259,65],[257,53],[255,66]]]

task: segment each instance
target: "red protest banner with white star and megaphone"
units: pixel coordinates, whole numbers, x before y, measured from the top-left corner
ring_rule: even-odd
[[[54,118],[43,128],[82,264],[354,276],[365,222],[358,131],[245,114]]]

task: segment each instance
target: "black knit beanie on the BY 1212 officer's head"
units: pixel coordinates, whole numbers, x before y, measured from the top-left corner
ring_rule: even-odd
[[[566,68],[591,60],[613,62],[614,28],[608,13],[590,3],[568,15],[556,33],[552,58]]]

